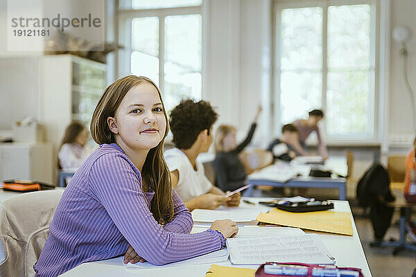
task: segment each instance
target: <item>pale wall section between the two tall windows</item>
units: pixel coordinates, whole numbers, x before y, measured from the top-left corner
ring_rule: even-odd
[[[217,125],[231,124],[245,135],[262,105],[254,143],[270,137],[271,1],[211,0],[203,14],[205,80],[202,98],[217,107]]]

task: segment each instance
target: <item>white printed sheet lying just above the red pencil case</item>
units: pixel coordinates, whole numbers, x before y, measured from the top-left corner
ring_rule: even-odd
[[[329,252],[317,234],[240,238],[227,240],[233,265],[261,265],[264,262],[304,262],[333,265]]]

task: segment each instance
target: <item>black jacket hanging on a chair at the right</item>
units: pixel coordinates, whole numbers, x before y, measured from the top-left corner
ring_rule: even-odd
[[[394,208],[385,202],[394,202],[390,190],[390,177],[379,163],[374,163],[357,185],[358,204],[363,208],[370,206],[370,218],[376,240],[383,240],[390,227]]]

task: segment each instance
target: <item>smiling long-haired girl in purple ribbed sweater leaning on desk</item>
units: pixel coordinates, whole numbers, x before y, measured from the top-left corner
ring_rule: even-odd
[[[167,122],[161,93],[148,78],[130,75],[105,89],[91,122],[100,148],[65,189],[35,276],[124,253],[125,262],[164,265],[221,249],[236,235],[231,220],[189,234],[191,213],[172,188],[162,153]]]

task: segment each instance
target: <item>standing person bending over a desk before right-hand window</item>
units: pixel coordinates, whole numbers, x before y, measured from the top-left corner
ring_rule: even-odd
[[[318,138],[318,150],[320,155],[327,159],[328,152],[327,152],[327,146],[322,141],[322,138],[320,136],[320,130],[318,127],[318,123],[320,120],[324,118],[324,113],[320,109],[313,109],[312,111],[309,111],[309,118],[308,119],[299,119],[295,120],[292,124],[297,127],[299,130],[299,141],[302,147],[298,145],[294,145],[295,151],[299,155],[306,156],[309,153],[306,151],[306,139],[308,139],[311,132],[315,132],[316,136]]]

